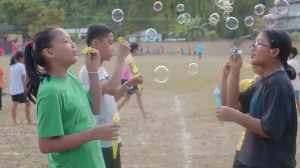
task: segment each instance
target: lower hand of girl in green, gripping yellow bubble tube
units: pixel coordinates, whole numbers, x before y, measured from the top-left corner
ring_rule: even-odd
[[[103,124],[94,128],[95,140],[118,140],[117,132],[121,126],[117,124]]]

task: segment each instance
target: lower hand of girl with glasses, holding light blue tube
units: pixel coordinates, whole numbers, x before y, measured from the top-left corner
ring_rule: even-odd
[[[218,106],[215,109],[216,117],[219,121],[228,121],[233,122],[236,121],[236,118],[239,114],[242,114],[238,110],[230,108],[228,106]]]

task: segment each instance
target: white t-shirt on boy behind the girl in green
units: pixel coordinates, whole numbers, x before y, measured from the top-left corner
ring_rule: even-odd
[[[109,78],[106,70],[104,67],[100,66],[99,67],[99,79],[100,81],[102,80],[107,80]],[[79,72],[79,80],[81,84],[89,89],[89,77],[88,73],[86,71],[85,65],[81,68]],[[114,96],[109,95],[109,94],[104,94],[102,95],[102,106],[101,106],[101,113],[100,115],[94,115],[94,120],[96,125],[101,125],[101,124],[112,124],[112,118],[115,113],[118,113],[118,109],[116,106],[116,102],[114,99]],[[121,137],[119,136],[119,143],[121,142]],[[112,147],[112,141],[101,141],[101,147],[102,148],[107,148],[107,147]]]

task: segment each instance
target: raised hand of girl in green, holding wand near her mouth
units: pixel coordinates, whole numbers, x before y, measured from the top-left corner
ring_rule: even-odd
[[[92,49],[85,54],[85,66],[88,72],[97,72],[100,66],[99,51]]]

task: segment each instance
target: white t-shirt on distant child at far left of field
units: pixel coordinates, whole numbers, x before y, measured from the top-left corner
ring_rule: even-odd
[[[9,83],[10,95],[17,95],[17,94],[24,93],[22,75],[26,75],[25,65],[23,63],[17,62],[11,65],[10,83]]]

